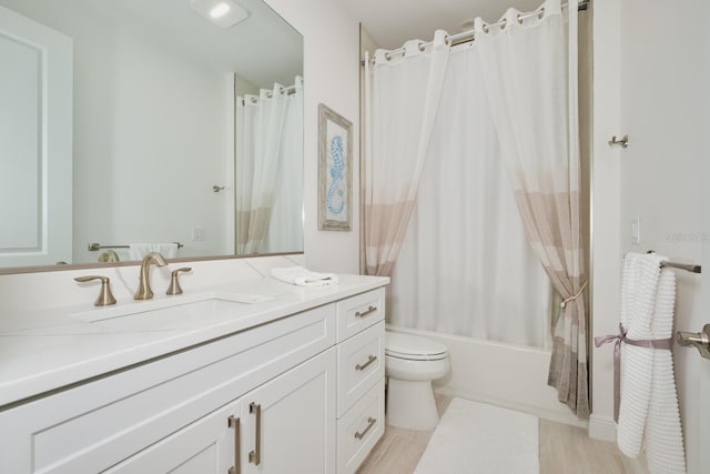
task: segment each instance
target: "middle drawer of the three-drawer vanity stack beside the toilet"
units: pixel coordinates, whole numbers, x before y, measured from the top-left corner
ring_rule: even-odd
[[[341,416],[385,375],[385,322],[337,345],[337,414]]]

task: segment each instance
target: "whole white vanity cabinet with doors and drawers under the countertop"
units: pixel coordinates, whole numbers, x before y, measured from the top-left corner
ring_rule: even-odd
[[[381,288],[6,406],[0,473],[354,472],[384,430],[383,317]]]

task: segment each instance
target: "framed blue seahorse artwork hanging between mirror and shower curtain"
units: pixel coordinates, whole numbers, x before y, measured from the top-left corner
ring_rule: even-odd
[[[318,104],[318,230],[349,231],[353,215],[353,124]]]

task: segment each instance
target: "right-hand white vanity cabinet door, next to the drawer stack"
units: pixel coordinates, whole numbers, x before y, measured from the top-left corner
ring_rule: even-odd
[[[243,473],[335,473],[335,347],[242,397]]]

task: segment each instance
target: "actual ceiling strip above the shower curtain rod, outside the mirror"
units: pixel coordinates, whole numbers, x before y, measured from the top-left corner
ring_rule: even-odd
[[[410,39],[428,41],[435,30],[456,33],[475,17],[498,20],[506,9],[535,10],[542,0],[333,0],[341,3],[379,48],[396,49]]]

